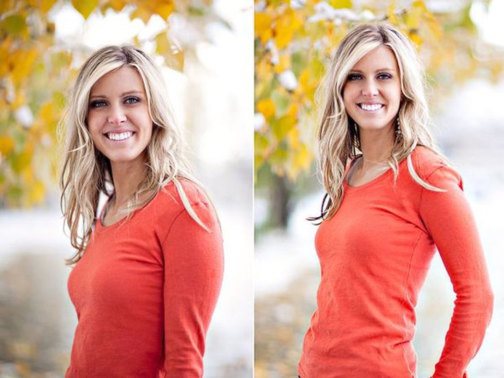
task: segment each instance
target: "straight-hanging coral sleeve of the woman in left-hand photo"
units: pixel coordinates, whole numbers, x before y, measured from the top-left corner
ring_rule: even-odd
[[[192,207],[209,231],[183,210],[162,243],[166,377],[202,377],[206,331],[222,282],[224,257],[219,221],[207,203]]]

